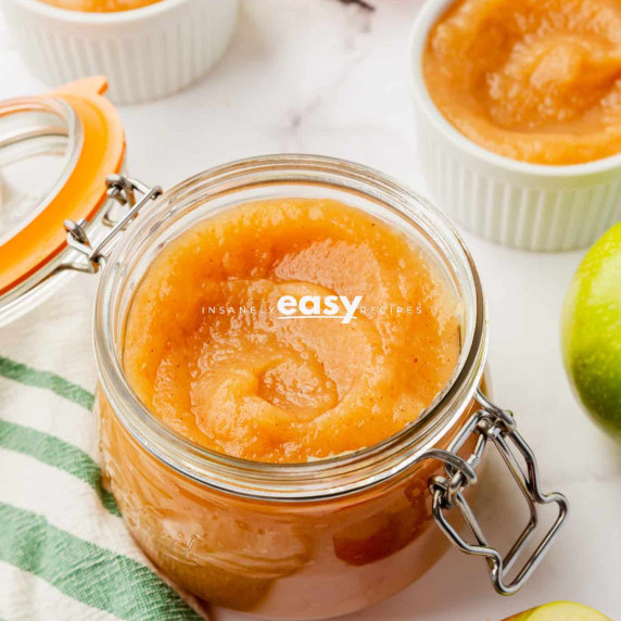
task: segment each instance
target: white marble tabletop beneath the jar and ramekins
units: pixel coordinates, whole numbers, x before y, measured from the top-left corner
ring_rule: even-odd
[[[369,13],[337,0],[246,0],[211,76],[176,97],[122,109],[131,173],[169,186],[232,159],[297,151],[356,160],[424,192],[407,58],[420,2],[373,3]],[[0,98],[41,89],[0,18]],[[494,594],[481,559],[451,550],[417,584],[350,618],[495,621],[573,599],[621,619],[621,446],[581,413],[560,360],[559,312],[582,253],[527,254],[464,235],[487,294],[496,401],[517,413],[545,487],[569,496],[571,518],[514,597]],[[480,505],[491,538],[517,528],[511,493],[496,480],[485,484]]]

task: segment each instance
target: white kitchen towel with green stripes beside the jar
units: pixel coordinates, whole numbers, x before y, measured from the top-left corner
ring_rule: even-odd
[[[195,600],[155,572],[102,486],[93,286],[76,277],[0,328],[0,619],[200,620]]]

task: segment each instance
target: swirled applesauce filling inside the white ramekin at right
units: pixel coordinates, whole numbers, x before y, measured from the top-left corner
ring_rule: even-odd
[[[485,149],[578,164],[621,152],[619,0],[461,0],[422,62],[444,117]]]

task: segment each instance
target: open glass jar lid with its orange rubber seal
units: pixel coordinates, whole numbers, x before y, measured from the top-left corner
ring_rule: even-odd
[[[105,178],[122,168],[125,134],[106,89],[91,77],[0,102],[0,324],[59,271],[71,252],[63,221],[97,220]]]

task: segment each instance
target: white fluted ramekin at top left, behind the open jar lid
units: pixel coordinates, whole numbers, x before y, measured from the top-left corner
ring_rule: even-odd
[[[224,53],[239,10],[239,0],[161,0],[115,13],[39,0],[1,4],[26,65],[43,84],[104,75],[117,103],[162,98],[198,80]]]

